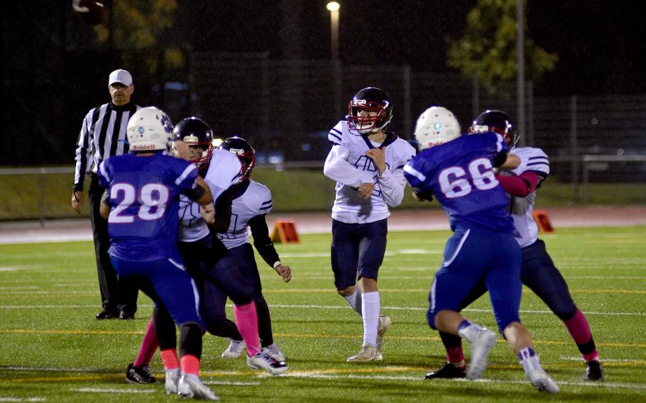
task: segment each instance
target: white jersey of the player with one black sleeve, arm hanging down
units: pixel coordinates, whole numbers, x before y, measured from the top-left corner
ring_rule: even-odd
[[[249,220],[253,217],[268,214],[271,211],[271,191],[264,184],[249,180],[242,185],[239,196],[231,203],[231,225],[226,233],[217,237],[227,249],[236,248],[248,242]],[[246,188],[245,188],[246,187]],[[237,196],[237,197],[236,197]]]

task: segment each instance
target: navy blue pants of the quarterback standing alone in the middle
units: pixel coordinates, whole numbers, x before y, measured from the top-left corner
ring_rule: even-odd
[[[377,280],[385,255],[388,220],[342,223],[332,220],[332,271],[336,289],[356,285],[357,278]]]

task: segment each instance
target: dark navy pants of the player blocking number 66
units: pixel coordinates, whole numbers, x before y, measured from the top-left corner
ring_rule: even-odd
[[[522,248],[520,281],[542,299],[562,321],[571,319],[576,314],[578,308],[572,300],[567,283],[561,272],[554,266],[542,240],[539,239],[532,245]],[[487,292],[486,284],[478,283],[465,297],[460,308],[469,306],[485,292]]]

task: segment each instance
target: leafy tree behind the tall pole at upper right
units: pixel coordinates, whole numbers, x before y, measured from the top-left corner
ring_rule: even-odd
[[[523,10],[526,10],[523,0]],[[527,24],[522,22],[527,31]],[[515,82],[518,72],[516,53],[516,0],[478,0],[466,18],[465,34],[459,40],[449,38],[447,65],[460,70],[464,77],[478,77],[478,83],[490,94],[501,94]],[[537,82],[554,70],[559,57],[536,46],[525,35],[525,67],[528,80]]]

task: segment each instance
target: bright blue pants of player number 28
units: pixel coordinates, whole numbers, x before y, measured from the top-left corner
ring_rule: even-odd
[[[197,287],[185,271],[184,262],[176,250],[164,260],[136,262],[111,256],[111,262],[120,277],[136,282],[155,304],[168,309],[178,326],[198,324],[204,329],[199,316]]]

